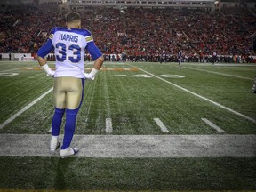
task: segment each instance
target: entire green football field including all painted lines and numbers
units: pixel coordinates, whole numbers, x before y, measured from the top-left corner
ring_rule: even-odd
[[[53,79],[38,67],[0,62],[0,191],[256,191],[255,64],[106,61],[66,159],[47,150]]]

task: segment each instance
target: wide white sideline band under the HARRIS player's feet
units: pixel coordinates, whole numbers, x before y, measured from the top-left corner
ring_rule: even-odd
[[[59,157],[50,134],[0,134],[0,156]],[[60,135],[62,142],[63,135]],[[255,157],[256,135],[74,135],[72,157]]]

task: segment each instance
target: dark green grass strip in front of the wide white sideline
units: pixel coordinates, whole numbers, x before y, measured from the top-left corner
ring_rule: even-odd
[[[0,157],[0,188],[255,190],[255,160]]]

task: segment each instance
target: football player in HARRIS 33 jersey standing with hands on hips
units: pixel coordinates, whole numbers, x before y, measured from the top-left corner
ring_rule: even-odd
[[[55,111],[52,118],[52,139],[50,150],[54,152],[60,147],[59,134],[62,117],[66,112],[64,138],[60,149],[60,157],[75,155],[77,148],[70,144],[76,129],[76,115],[83,100],[84,79],[93,80],[100,70],[104,58],[93,43],[92,34],[81,29],[81,18],[76,12],[66,16],[67,28],[53,28],[48,41],[37,52],[36,59],[47,76],[54,77]],[[54,50],[56,70],[47,65],[45,56]],[[95,60],[92,71],[84,73],[85,50]]]

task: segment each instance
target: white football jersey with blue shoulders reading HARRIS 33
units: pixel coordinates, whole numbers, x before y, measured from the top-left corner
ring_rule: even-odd
[[[72,76],[84,78],[84,53],[88,43],[93,42],[92,34],[80,28],[53,28],[51,35],[56,58],[54,77]]]

